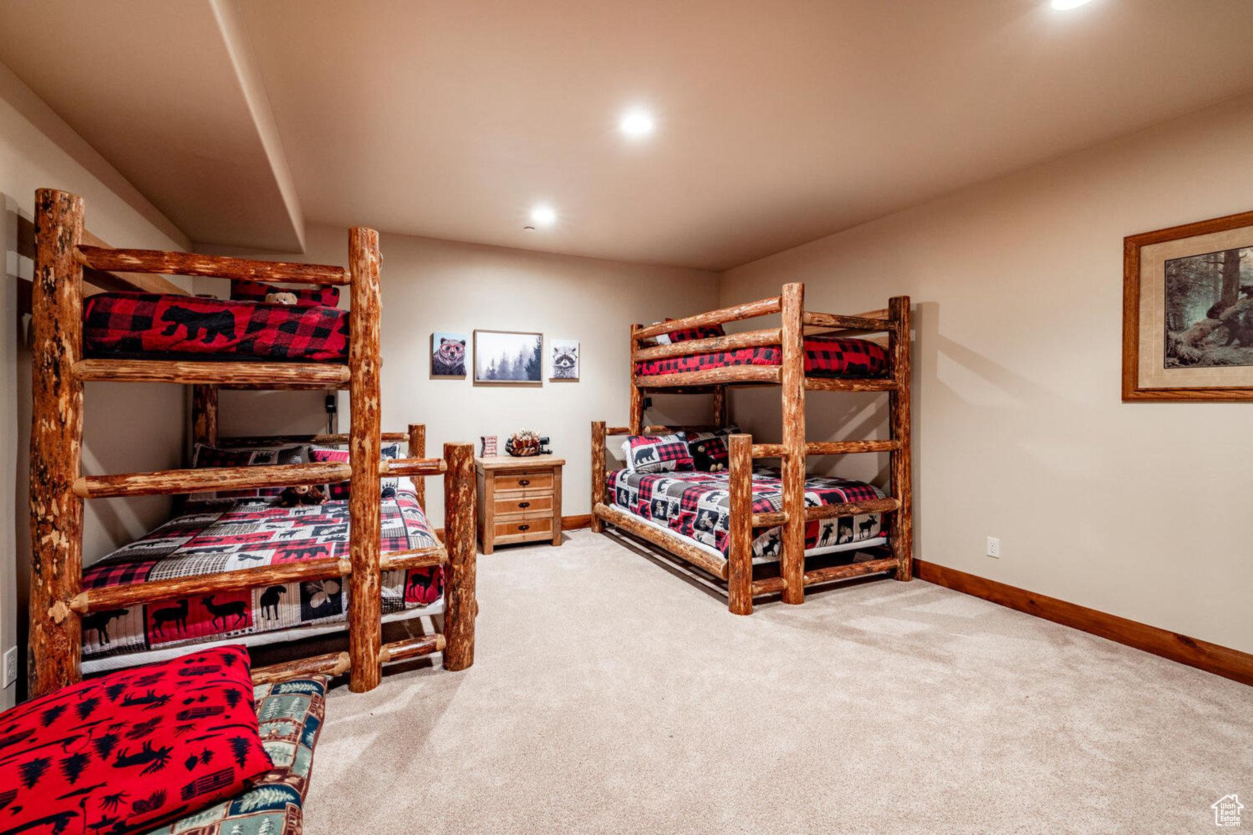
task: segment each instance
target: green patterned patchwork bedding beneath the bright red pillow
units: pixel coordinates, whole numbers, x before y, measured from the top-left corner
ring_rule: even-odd
[[[301,835],[313,746],[326,716],[326,676],[253,689],[261,742],[273,760],[242,795],[148,835]]]

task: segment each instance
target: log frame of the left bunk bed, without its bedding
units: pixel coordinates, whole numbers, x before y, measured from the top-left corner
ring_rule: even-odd
[[[30,696],[81,679],[81,616],[170,596],[233,591],[258,583],[347,577],[348,651],[253,670],[258,684],[317,672],[350,675],[350,687],[376,687],[382,665],[431,652],[447,670],[474,663],[475,484],[474,446],[444,444],[426,458],[426,429],[381,431],[378,233],[348,232],[348,269],[243,260],[179,252],[110,249],[84,230],[83,198],[53,189],[35,194],[35,278],[31,292],[33,427],[30,433]],[[247,278],[259,282],[348,285],[348,362],[172,362],[83,357],[84,272],[90,288],[175,292],[155,273]],[[203,443],[315,442],[347,444],[347,463],[221,467],[83,476],[83,382],[122,381],[192,386],[193,438]],[[352,412],[346,434],[218,438],[218,389],[347,388]],[[407,441],[410,458],[381,461],[383,439]],[[445,538],[431,548],[380,553],[382,476],[442,476]],[[287,487],[351,479],[352,538],[347,560],[323,558],[214,575],[83,590],[83,499],[179,494],[207,489]],[[444,632],[382,643],[381,572],[445,566]]]

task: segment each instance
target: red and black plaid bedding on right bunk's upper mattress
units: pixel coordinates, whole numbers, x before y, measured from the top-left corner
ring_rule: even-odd
[[[690,357],[667,357],[635,363],[642,377],[678,374],[727,366],[778,366],[783,358],[779,346],[736,348]],[[868,339],[841,337],[806,337],[804,373],[811,377],[883,377],[887,374],[887,349]]]

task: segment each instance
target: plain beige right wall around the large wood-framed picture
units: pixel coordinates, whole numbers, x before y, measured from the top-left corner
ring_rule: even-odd
[[[722,302],[912,295],[917,556],[1253,651],[1253,404],[1119,397],[1123,237],[1250,207],[1243,98],[729,270]],[[777,438],[773,399],[734,403]],[[870,437],[885,404],[808,416],[811,439]]]

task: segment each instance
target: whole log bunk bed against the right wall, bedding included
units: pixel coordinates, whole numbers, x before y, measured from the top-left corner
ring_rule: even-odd
[[[724,323],[771,314],[781,314],[781,327],[722,334],[720,325]],[[886,334],[886,351],[878,343],[853,338],[863,334]],[[841,352],[870,352],[878,363],[840,364]],[[824,357],[836,357],[836,362],[823,366]],[[632,325],[630,362],[629,424],[606,427],[601,421],[591,424],[593,531],[601,532],[605,523],[613,525],[725,581],[728,607],[736,615],[751,615],[753,598],[761,595],[782,593],[783,602],[801,603],[804,601],[804,587],[811,585],[871,573],[886,573],[902,581],[912,577],[908,297],[893,297],[882,310],[834,315],[806,310],[804,285],[786,284],[776,297],[648,327]],[[645,477],[653,478],[650,487],[620,478],[629,471],[606,477],[605,444],[609,436],[717,432],[730,426],[727,388],[753,386],[781,388],[782,442],[754,443],[749,434],[727,434],[727,473],[719,474],[720,481],[709,479],[710,473],[662,472]],[[887,392],[891,437],[885,441],[807,442],[806,396],[812,391]],[[645,426],[645,396],[650,392],[712,394],[714,426]],[[808,456],[865,452],[891,456],[888,494],[861,482],[806,476]],[[753,462],[762,458],[781,459],[777,478],[763,479],[754,471]],[[708,484],[703,488],[685,487],[682,482],[684,476],[705,477],[720,493],[713,493]],[[647,489],[657,491],[652,493],[654,497],[658,492],[667,494],[665,486],[658,483],[662,479],[672,488],[678,483],[680,492],[669,492],[659,508],[654,503],[652,507],[657,510],[650,510],[648,501],[638,499]],[[702,489],[704,493],[700,493]],[[767,497],[769,501],[764,502],[767,507],[763,510],[763,493],[771,489],[773,494]],[[690,517],[693,507],[702,507],[702,496],[712,496],[710,503],[720,503],[710,517],[718,520],[717,532],[723,535],[719,548],[709,547],[712,537],[703,542],[693,538],[690,522],[687,522],[687,528],[677,523],[679,517]],[[667,505],[667,501],[670,503]],[[695,515],[700,512],[697,510]],[[855,541],[855,517],[862,520],[860,530],[882,527],[886,537]],[[826,542],[827,533],[837,523],[847,525],[848,542],[819,553],[852,553],[882,546],[888,556],[807,567],[806,558],[813,555],[806,548],[807,535],[808,541],[817,543],[814,530],[822,527],[821,538]],[[695,528],[702,530],[699,518]],[[709,530],[709,525],[703,530]],[[777,553],[778,576],[754,578],[754,553],[757,562],[767,562],[759,547],[763,540],[774,546],[771,553]]]

